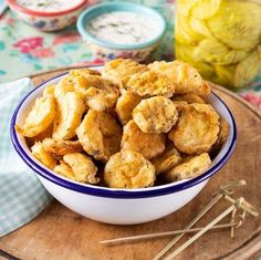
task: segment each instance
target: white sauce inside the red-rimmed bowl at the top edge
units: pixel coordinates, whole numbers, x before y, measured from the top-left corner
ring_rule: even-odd
[[[81,0],[17,0],[21,7],[33,11],[58,12],[80,4]]]

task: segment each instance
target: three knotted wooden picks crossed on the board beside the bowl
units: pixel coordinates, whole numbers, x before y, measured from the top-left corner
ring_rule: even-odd
[[[258,210],[251,204],[249,204],[243,197],[238,197],[238,198],[232,197],[234,188],[243,185],[247,185],[247,183],[246,180],[242,179],[239,181],[231,181],[227,185],[220,186],[217,193],[213,194],[211,201],[209,201],[209,204],[191,221],[189,221],[189,223],[182,230],[146,233],[133,237],[123,237],[123,238],[103,240],[100,241],[100,243],[112,246],[133,241],[148,240],[154,238],[171,237],[174,235],[177,235],[153,259],[153,260],[159,260],[159,259],[171,260],[209,230],[230,228],[231,230],[230,237],[233,238],[236,229],[243,225],[247,214],[251,215],[252,217],[259,216]],[[217,205],[217,202],[221,201],[222,199],[229,201],[230,205],[226,210],[223,210],[220,215],[213,218],[205,227],[192,228],[199,221],[199,219],[201,219],[215,205]],[[230,222],[219,223],[225,217],[229,215],[231,216]],[[185,233],[195,233],[195,235],[190,237],[185,243],[179,246],[177,249],[174,249],[174,246]]]

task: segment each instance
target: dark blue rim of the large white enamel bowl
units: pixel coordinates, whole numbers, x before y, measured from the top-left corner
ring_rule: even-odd
[[[91,67],[91,66],[88,66]],[[98,67],[98,66],[92,66],[92,67]],[[38,175],[40,175],[41,177],[59,185],[62,186],[64,188],[81,193],[81,194],[88,194],[92,196],[98,196],[98,197],[106,197],[106,198],[118,198],[118,199],[138,199],[138,198],[148,198],[148,197],[157,197],[157,196],[164,196],[164,195],[168,195],[168,194],[173,194],[173,193],[178,193],[185,189],[188,189],[195,185],[198,185],[200,183],[202,183],[203,180],[207,180],[208,178],[210,178],[212,175],[215,175],[216,173],[218,173],[218,170],[229,160],[229,158],[232,155],[232,152],[236,147],[236,141],[237,141],[237,126],[236,126],[236,122],[234,118],[232,116],[232,113],[230,112],[230,110],[228,108],[228,106],[226,105],[226,103],[213,92],[211,92],[227,108],[230,117],[231,117],[231,122],[232,122],[232,141],[230,146],[228,147],[227,153],[223,155],[223,157],[216,164],[213,165],[211,168],[209,168],[207,171],[205,171],[203,174],[199,175],[198,177],[195,177],[192,179],[188,179],[184,183],[180,184],[173,184],[173,186],[167,185],[168,187],[165,187],[166,185],[161,185],[161,186],[157,186],[155,187],[155,189],[150,189],[150,190],[115,190],[115,189],[109,189],[107,187],[101,187],[101,186],[91,186],[91,185],[81,185],[80,183],[72,183],[67,179],[61,178],[59,176],[55,176],[54,174],[52,174],[50,170],[46,170],[44,167],[42,167],[41,165],[36,164],[34,160],[32,160],[27,152],[24,150],[24,148],[21,146],[18,136],[17,136],[17,132],[15,132],[15,122],[17,122],[17,116],[19,113],[20,107],[22,106],[22,104],[24,103],[24,101],[28,98],[28,96],[30,96],[34,91],[36,91],[39,87],[41,87],[43,84],[46,84],[48,82],[55,80],[62,75],[65,75],[67,73],[62,73],[58,76],[54,76],[45,82],[43,82],[42,84],[40,84],[39,86],[36,86],[35,89],[33,89],[31,92],[29,92],[23,98],[22,101],[18,104],[17,108],[14,110],[14,113],[12,115],[12,119],[11,119],[11,125],[10,125],[10,135],[11,135],[11,141],[12,144],[15,148],[15,150],[18,152],[18,154],[21,156],[21,158],[24,160],[24,163],[31,168],[33,169]]]

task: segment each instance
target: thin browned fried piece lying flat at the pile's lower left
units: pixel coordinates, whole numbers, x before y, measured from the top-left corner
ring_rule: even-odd
[[[79,141],[63,141],[45,138],[42,142],[43,148],[55,155],[65,155],[71,153],[83,152],[83,146]]]

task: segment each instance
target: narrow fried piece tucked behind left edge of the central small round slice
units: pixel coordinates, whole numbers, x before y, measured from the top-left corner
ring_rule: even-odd
[[[123,125],[133,118],[134,107],[142,101],[142,97],[132,92],[123,93],[116,103],[116,113]]]

